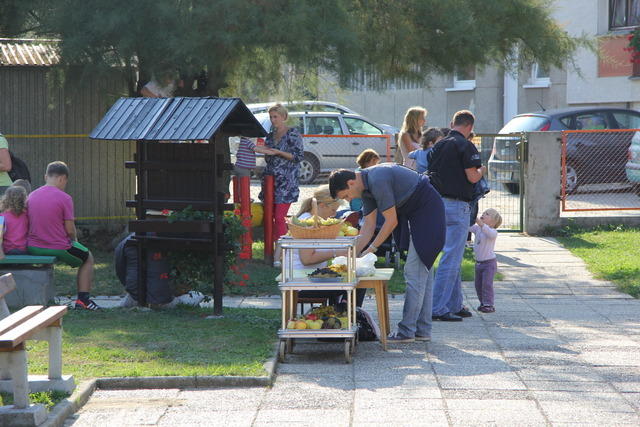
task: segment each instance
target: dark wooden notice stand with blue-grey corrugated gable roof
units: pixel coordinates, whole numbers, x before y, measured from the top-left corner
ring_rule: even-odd
[[[238,98],[121,98],[90,138],[136,140],[126,168],[136,173],[137,193],[127,200],[136,220],[129,231],[138,249],[138,303],[146,305],[146,251],[199,250],[212,254],[214,314],[222,313],[223,211],[229,192],[229,137],[264,137],[262,125]],[[115,165],[114,165],[115,167]],[[213,221],[150,218],[148,210],[188,206],[214,213]]]

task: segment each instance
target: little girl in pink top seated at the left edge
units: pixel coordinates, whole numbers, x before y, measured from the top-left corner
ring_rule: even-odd
[[[27,191],[24,187],[12,185],[0,200],[0,216],[4,217],[2,250],[6,255],[27,254]]]

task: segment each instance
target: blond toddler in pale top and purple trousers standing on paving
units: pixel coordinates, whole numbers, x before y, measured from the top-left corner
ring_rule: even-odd
[[[498,271],[498,262],[494,247],[498,237],[498,227],[502,224],[502,217],[495,209],[487,209],[482,213],[476,223],[469,227],[475,235],[473,252],[476,257],[476,294],[480,300],[478,311],[493,313],[496,311],[493,305],[493,278]]]

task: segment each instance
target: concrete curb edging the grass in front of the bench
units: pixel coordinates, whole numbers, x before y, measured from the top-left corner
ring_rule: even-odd
[[[278,365],[278,342],[273,356],[264,363],[267,375],[264,377],[116,377],[97,378],[82,382],[75,392],[49,412],[47,420],[38,427],[61,427],[71,415],[76,413],[97,390],[135,390],[163,388],[225,388],[225,387],[271,387]]]

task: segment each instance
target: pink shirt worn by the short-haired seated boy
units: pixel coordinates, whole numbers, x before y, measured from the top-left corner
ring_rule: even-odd
[[[71,239],[64,228],[65,221],[73,221],[71,196],[53,185],[45,185],[27,199],[29,207],[29,235],[27,246],[47,249],[69,249]]]

